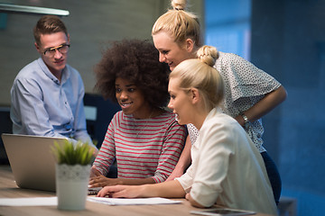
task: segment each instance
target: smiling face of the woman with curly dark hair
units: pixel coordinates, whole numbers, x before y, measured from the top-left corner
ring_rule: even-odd
[[[152,109],[145,101],[144,94],[127,79],[116,78],[116,100],[126,115],[132,114],[136,119],[150,116]]]

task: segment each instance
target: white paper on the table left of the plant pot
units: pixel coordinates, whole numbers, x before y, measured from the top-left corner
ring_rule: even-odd
[[[58,205],[58,198],[31,197],[31,198],[0,198],[0,206],[51,206]]]

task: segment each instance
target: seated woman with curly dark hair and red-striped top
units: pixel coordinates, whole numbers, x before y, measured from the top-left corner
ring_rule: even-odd
[[[118,103],[92,166],[89,184],[155,184],[171,175],[181,155],[185,128],[163,109],[169,70],[145,40],[116,41],[95,67],[96,88]],[[117,178],[106,175],[116,158]]]

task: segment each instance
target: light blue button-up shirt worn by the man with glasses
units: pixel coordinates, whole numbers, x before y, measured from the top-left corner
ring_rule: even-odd
[[[75,68],[66,65],[59,81],[42,58],[34,60],[15,77],[11,89],[14,133],[68,137],[92,145],[86,129],[84,94]]]

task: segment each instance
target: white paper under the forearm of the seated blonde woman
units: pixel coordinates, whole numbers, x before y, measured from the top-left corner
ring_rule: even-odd
[[[122,198],[104,198],[104,197],[88,197],[90,202],[98,202],[107,205],[141,205],[141,204],[178,204],[181,201],[173,201],[160,197],[153,198],[135,198],[135,199],[122,199]]]

